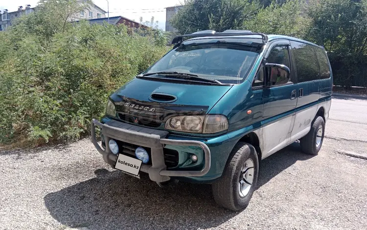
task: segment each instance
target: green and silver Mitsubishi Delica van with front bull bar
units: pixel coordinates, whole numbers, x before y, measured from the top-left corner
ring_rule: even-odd
[[[238,30],[196,32],[172,44],[92,120],[105,162],[161,186],[212,184],[219,206],[240,210],[263,159],[298,140],[301,151],[318,154],[333,85],[321,46]]]

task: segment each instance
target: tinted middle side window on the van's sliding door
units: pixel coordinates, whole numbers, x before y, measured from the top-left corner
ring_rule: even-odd
[[[313,46],[291,42],[296,62],[298,82],[319,79],[319,64]]]

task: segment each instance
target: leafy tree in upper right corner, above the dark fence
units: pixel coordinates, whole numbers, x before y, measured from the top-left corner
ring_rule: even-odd
[[[309,8],[312,27],[309,38],[331,52],[367,48],[367,0],[322,0]]]

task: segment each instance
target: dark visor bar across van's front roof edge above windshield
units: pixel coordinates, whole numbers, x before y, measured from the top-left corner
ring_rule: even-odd
[[[262,33],[252,33],[250,30],[233,30],[228,29],[223,32],[217,33],[214,30],[203,30],[192,34],[184,34],[173,38],[172,44],[180,44],[186,37],[223,37],[223,36],[238,36],[238,35],[260,35],[262,37],[263,44],[268,42],[268,36]]]

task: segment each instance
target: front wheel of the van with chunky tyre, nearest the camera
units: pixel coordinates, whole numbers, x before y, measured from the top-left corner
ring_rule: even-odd
[[[233,211],[246,208],[256,186],[258,171],[255,148],[245,142],[237,143],[222,177],[212,184],[215,202]]]

